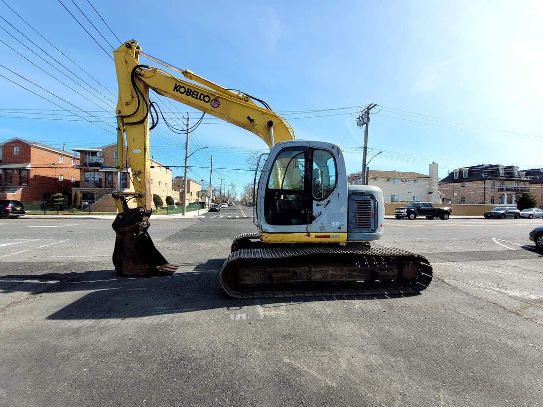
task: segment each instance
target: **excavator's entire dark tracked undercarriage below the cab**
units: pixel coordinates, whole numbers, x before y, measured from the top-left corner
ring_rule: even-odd
[[[413,295],[432,281],[425,257],[369,244],[262,243],[243,233],[220,271],[236,298]]]

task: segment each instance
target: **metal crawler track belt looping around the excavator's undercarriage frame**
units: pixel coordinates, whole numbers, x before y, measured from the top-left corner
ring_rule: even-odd
[[[396,249],[394,247],[363,247],[363,246],[342,246],[337,244],[264,244],[261,242],[253,242],[250,239],[258,238],[257,233],[243,233],[239,235],[232,243],[232,253],[225,260],[220,272],[220,284],[226,294],[235,298],[285,298],[285,297],[320,297],[320,296],[407,296],[420,294],[425,290],[432,281],[432,266],[428,260],[414,253],[405,250]],[[240,246],[241,249],[238,249]],[[247,247],[249,246],[249,247]],[[319,258],[321,255],[345,255],[360,257],[362,262],[367,264],[383,264],[387,266],[399,261],[409,261],[417,263],[421,272],[415,281],[408,283],[400,282],[380,282],[367,281],[363,283],[352,282],[337,282],[333,285],[339,285],[338,288],[314,289],[307,287],[306,289],[293,290],[274,290],[270,287],[269,290],[261,291],[241,291],[234,287],[229,287],[225,281],[227,275],[235,268],[237,263],[247,260],[267,260],[273,263],[275,259],[286,259],[304,257],[311,263],[312,259]],[[308,282],[310,283],[310,282]],[[309,285],[309,284],[308,284]],[[330,284],[332,285],[332,284]]]

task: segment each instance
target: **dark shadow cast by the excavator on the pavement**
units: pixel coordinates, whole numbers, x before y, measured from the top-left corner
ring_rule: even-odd
[[[138,318],[254,306],[255,299],[230,298],[220,288],[219,271],[223,262],[224,259],[210,259],[205,263],[180,264],[181,269],[192,271],[156,277],[123,277],[118,276],[115,270],[5,275],[0,277],[0,292],[43,296],[56,292],[87,292],[49,315],[50,320]],[[375,284],[372,287],[364,295],[262,298],[258,301],[262,306],[271,306],[278,302],[392,300],[420,294],[420,291],[383,294]]]

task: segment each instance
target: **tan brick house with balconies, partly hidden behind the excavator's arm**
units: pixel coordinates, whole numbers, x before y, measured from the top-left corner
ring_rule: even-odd
[[[73,148],[79,152],[81,162],[78,164],[81,183],[74,188],[73,193],[79,192],[81,202],[89,202],[94,212],[117,212],[115,200],[111,193],[118,190],[117,174],[117,143],[95,148]],[[151,194],[160,195],[163,202],[171,194],[172,169],[151,160],[150,183]],[[130,168],[121,171],[121,190],[134,190]],[[135,207],[135,200],[129,201],[129,207]]]

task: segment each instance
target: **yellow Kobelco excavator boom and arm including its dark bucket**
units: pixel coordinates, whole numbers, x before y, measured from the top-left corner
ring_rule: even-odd
[[[149,88],[194,109],[247,129],[260,137],[269,148],[281,141],[293,140],[294,131],[286,119],[266,107],[258,106],[241,91],[232,91],[187,70],[169,66],[141,52],[135,40],[125,42],[113,52],[119,98],[117,103],[117,171],[130,167],[134,192],[115,192],[119,214],[113,222],[116,231],[113,264],[120,274],[147,275],[171,273],[175,266],[155,249],[147,233],[152,211],[150,190]],[[146,56],[180,72],[188,82],[161,69],[141,65]],[[135,199],[137,208],[129,209],[128,200]]]

